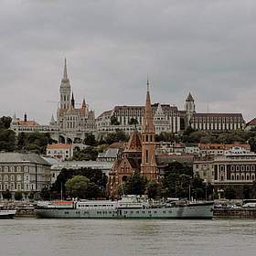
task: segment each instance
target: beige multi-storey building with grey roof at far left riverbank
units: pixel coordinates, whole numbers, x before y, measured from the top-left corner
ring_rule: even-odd
[[[50,184],[50,165],[33,153],[0,153],[0,194],[39,192]]]

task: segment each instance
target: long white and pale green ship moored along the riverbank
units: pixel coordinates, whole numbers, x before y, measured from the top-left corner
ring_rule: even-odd
[[[37,204],[37,218],[212,219],[213,202],[162,202],[125,196],[121,200],[54,201]]]

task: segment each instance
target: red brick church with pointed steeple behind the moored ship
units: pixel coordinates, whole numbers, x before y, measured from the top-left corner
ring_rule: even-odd
[[[159,170],[155,161],[155,126],[151,108],[149,83],[147,81],[143,132],[134,131],[123,154],[112,166],[109,174],[108,192],[117,195],[117,189],[133,172],[140,171],[148,180],[159,180]]]

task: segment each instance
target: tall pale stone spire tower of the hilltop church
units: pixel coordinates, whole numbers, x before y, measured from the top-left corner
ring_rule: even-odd
[[[70,84],[69,84],[66,59],[65,59],[65,63],[64,63],[64,73],[63,73],[63,78],[61,80],[59,93],[60,93],[59,108],[62,110],[69,109],[71,88],[70,88]]]

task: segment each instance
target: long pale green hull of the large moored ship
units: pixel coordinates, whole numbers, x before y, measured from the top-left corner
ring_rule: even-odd
[[[212,219],[213,204],[171,208],[124,208],[115,210],[40,208],[37,218],[48,219]]]

